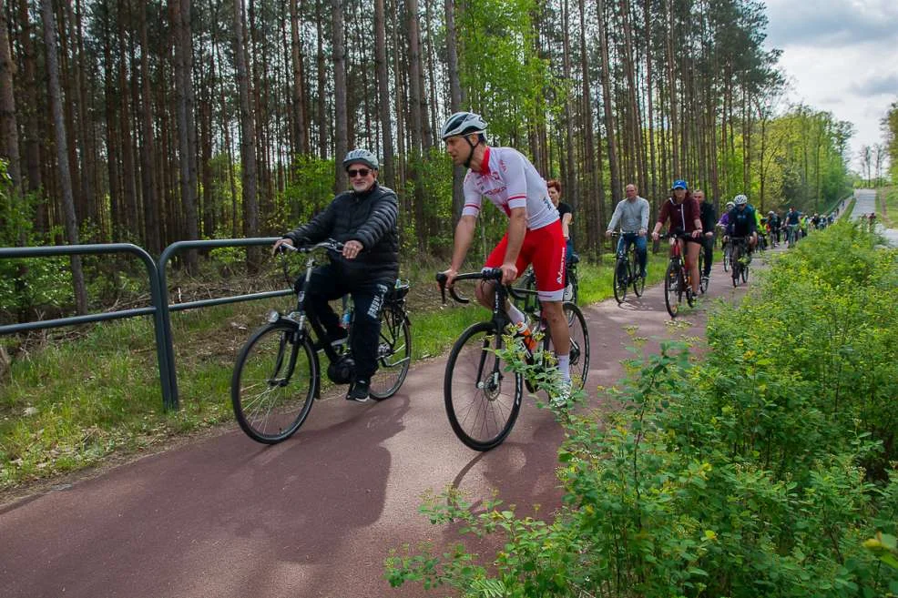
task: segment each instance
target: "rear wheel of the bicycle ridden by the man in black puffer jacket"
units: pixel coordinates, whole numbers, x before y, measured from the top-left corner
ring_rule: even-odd
[[[381,337],[377,343],[377,371],[371,378],[374,400],[389,399],[405,381],[412,363],[412,331],[403,309],[388,305],[381,312]]]

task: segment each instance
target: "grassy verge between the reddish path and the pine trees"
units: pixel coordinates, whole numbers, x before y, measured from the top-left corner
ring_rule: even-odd
[[[610,255],[607,256],[610,259]],[[473,260],[473,258],[472,258]],[[652,258],[649,283],[662,276],[664,258]],[[234,267],[240,259],[234,258]],[[443,354],[461,331],[489,312],[440,304],[434,260],[407,260],[413,359]],[[476,269],[476,266],[470,266]],[[579,265],[584,302],[611,295],[610,268]],[[204,291],[203,277],[175,279],[182,300],[227,295]],[[276,264],[265,283],[283,284]],[[211,286],[211,285],[209,285]],[[250,285],[251,286],[251,285]],[[242,289],[244,292],[247,289]],[[205,294],[204,294],[205,293]],[[230,294],[235,294],[231,292]],[[36,333],[26,340],[0,338],[10,362],[0,360],[0,490],[96,465],[110,455],[156,450],[173,439],[233,421],[230,376],[234,360],[267,309],[289,310],[291,297],[172,312],[180,409],[162,408],[152,320],[121,319],[77,329]],[[325,384],[329,382],[325,380]]]

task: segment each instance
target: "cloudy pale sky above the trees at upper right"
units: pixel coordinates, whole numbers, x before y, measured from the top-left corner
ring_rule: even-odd
[[[762,0],[768,48],[782,50],[791,103],[854,125],[852,167],[862,146],[883,143],[880,121],[898,101],[898,0]]]

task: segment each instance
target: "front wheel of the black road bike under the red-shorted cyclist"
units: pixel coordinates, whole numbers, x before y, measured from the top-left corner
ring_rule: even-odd
[[[475,451],[489,451],[515,426],[524,380],[506,370],[496,350],[502,335],[492,322],[465,329],[455,341],[443,381],[446,415],[458,440]]]

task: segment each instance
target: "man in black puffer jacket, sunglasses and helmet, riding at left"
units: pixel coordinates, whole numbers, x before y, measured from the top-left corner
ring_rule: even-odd
[[[365,402],[377,370],[383,299],[399,274],[399,202],[392,189],[377,183],[378,161],[370,151],[353,149],[343,159],[343,167],[352,190],[333,198],[308,224],[284,235],[274,250],[326,238],[343,243],[342,253],[331,251],[331,263],[312,272],[305,306],[321,320],[329,340],[341,340],[346,331],[328,301],[352,295],[355,381],[346,399]]]

